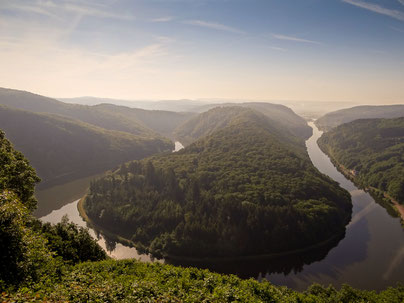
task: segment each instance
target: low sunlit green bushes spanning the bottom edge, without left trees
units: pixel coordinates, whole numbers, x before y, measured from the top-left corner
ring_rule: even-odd
[[[404,300],[404,287],[379,294],[343,286],[312,285],[299,293],[269,282],[242,280],[196,268],[136,260],[81,263],[55,279],[44,277],[3,302],[391,302]]]

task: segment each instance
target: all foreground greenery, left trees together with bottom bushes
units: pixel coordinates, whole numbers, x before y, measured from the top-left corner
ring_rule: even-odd
[[[87,229],[32,217],[35,170],[0,132],[2,302],[402,302],[404,288],[376,293],[312,285],[298,293],[269,282],[136,260],[106,260]]]

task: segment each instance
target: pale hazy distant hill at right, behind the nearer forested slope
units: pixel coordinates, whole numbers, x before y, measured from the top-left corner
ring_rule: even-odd
[[[378,106],[355,106],[328,113],[316,120],[315,124],[320,130],[329,131],[338,125],[358,119],[373,118],[399,118],[404,117],[404,105],[378,105]]]

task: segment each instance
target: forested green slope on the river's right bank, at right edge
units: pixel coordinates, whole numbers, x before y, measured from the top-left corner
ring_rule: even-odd
[[[356,120],[324,133],[318,143],[363,187],[404,203],[404,118]]]

